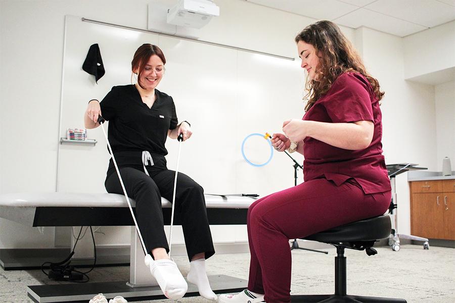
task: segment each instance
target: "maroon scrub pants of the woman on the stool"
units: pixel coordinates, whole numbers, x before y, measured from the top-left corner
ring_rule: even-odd
[[[289,239],[383,215],[391,192],[365,194],[354,179],[340,186],[314,179],[258,199],[248,210],[248,289],[266,302],[291,301]]]

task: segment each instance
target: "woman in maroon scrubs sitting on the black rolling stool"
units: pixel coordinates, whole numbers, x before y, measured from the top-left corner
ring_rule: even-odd
[[[304,182],[251,205],[248,289],[219,302],[290,302],[289,239],[380,216],[390,205],[378,81],[330,21],[307,26],[295,41],[308,72],[308,103],[272,143],[304,155]]]

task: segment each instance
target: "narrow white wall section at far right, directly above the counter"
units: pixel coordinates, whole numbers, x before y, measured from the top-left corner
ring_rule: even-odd
[[[437,171],[449,157],[455,170],[455,81],[435,86]]]

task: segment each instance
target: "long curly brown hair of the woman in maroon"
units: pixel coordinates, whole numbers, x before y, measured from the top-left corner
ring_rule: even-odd
[[[335,23],[323,20],[310,24],[295,37],[295,42],[299,41],[313,45],[319,57],[319,64],[315,71],[315,78],[318,80],[308,81],[307,79],[305,84],[308,90],[305,96],[308,99],[305,112],[329,91],[338,76],[349,71],[365,76],[373,87],[375,96],[378,100],[382,99],[384,92],[380,90],[378,80],[367,72],[351,42]]]

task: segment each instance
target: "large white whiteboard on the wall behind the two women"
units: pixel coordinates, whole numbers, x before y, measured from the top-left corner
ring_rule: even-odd
[[[94,43],[100,46],[106,70],[98,84],[82,70]],[[173,97],[179,121],[188,120],[194,133],[181,143],[179,171],[206,193],[266,195],[294,185],[293,163],[284,153],[275,152],[269,164],[253,167],[243,159],[241,145],[251,133],[279,132],[283,121],[303,116],[304,74],[298,60],[66,16],[60,137],[66,136],[67,128],[83,128],[88,100],[101,100],[112,86],[131,83],[132,56],[143,43],[157,44],[164,52],[166,71],[157,88]],[[87,134],[98,141],[95,146],[59,145],[59,191],[105,192],[110,158],[105,138],[101,128]],[[170,138],[166,141],[169,169],[175,168],[177,144]],[[270,154],[264,139],[252,139],[247,146],[250,160],[256,163]],[[303,162],[301,155],[293,155]],[[300,171],[298,183],[302,181]]]

